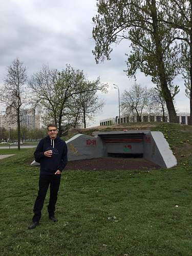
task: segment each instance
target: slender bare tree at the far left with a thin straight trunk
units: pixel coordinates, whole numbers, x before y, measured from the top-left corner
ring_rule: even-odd
[[[18,58],[7,68],[4,86],[1,87],[0,102],[4,103],[14,116],[16,113],[18,150],[20,150],[20,108],[26,101],[25,83],[27,68]]]

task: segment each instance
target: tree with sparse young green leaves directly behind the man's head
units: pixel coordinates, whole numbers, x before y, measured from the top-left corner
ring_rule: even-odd
[[[99,78],[88,81],[83,71],[75,71],[70,65],[62,71],[42,66],[41,71],[31,77],[29,85],[35,95],[34,102],[45,112],[46,120],[58,124],[59,135],[62,134],[62,122],[66,119],[66,109],[73,95],[106,90],[106,85],[101,84]]]

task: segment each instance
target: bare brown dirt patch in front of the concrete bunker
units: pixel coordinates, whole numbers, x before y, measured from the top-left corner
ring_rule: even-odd
[[[149,170],[159,169],[160,167],[143,158],[119,158],[119,157],[105,157],[83,159],[76,161],[69,161],[66,170],[95,170],[95,171],[115,171],[115,170]]]

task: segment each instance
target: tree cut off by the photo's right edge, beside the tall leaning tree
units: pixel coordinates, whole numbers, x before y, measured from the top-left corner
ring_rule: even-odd
[[[189,124],[192,125],[192,1],[160,0],[163,17],[160,22],[175,29],[174,39],[180,41],[181,67],[186,96],[190,100]]]

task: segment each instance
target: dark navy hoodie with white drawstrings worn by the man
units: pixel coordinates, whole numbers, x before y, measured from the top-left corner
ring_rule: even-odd
[[[52,150],[52,157],[46,157],[45,151]],[[41,139],[34,153],[35,161],[40,163],[40,174],[52,175],[57,170],[62,170],[67,165],[67,145],[66,142],[56,137],[54,140],[49,136]]]

